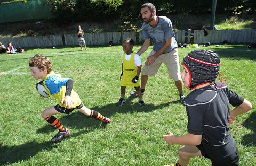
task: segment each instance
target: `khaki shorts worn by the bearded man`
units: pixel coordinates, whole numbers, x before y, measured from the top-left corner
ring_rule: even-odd
[[[152,50],[149,56],[154,55],[155,53],[156,51]],[[145,65],[142,68],[141,74],[155,77],[162,63],[167,66],[170,79],[173,79],[174,81],[181,80],[179,55],[177,49],[174,49],[169,53],[159,55],[152,65]]]

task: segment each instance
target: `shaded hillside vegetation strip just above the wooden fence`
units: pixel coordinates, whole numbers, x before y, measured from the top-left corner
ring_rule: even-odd
[[[164,15],[164,14],[162,14]],[[201,30],[210,27],[211,15],[165,14],[172,23],[174,30]],[[215,25],[218,29],[256,29],[255,15],[241,14],[228,16],[218,14]],[[40,22],[40,23],[38,23]],[[37,23],[37,24],[36,24]],[[0,24],[0,37],[41,36],[49,34],[76,33],[77,25],[81,25],[85,33],[141,31],[142,19],[131,22],[72,22],[58,24],[52,20],[29,20]]]

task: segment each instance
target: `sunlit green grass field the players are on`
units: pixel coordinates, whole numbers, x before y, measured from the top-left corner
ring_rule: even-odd
[[[181,145],[168,146],[163,135],[170,130],[174,135],[187,133],[186,109],[179,102],[174,81],[169,80],[162,65],[157,77],[149,77],[143,100],[129,96],[117,106],[120,97],[121,46],[89,46],[81,51],[78,46],[25,48],[15,55],[1,54],[0,72],[0,165],[166,165],[176,163]],[[140,46],[135,46],[138,51]],[[152,48],[152,46],[150,46]],[[256,101],[256,49],[247,45],[205,47],[221,57],[221,73],[229,88],[253,106]],[[204,49],[201,47],[200,49]],[[195,48],[179,48],[182,58]],[[150,49],[142,54],[145,62]],[[57,104],[54,98],[40,98],[30,76],[29,58],[35,54],[47,56],[53,71],[70,77],[73,89],[86,107],[111,118],[111,124],[88,118],[78,111],[56,117],[69,128],[71,134],[64,141],[52,144],[58,132],[42,117],[41,112]],[[190,91],[185,88],[185,95]],[[231,107],[232,108],[232,107]],[[237,141],[241,165],[255,165],[256,159],[255,108],[238,116],[231,125]],[[189,165],[211,165],[209,159],[191,159]]]

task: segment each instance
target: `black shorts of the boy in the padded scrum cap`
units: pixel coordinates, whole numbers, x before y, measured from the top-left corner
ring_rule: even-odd
[[[239,152],[237,150],[235,141],[222,146],[213,146],[202,138],[201,144],[197,145],[196,147],[201,151],[205,158],[211,159],[214,166],[239,165]]]

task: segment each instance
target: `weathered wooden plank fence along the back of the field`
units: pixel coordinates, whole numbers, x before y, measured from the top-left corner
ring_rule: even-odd
[[[175,31],[175,39],[178,43],[198,43],[210,42],[221,44],[227,40],[229,43],[256,43],[256,29],[247,30],[208,30],[204,36],[203,30],[194,30],[194,35],[190,31]],[[125,38],[132,38],[134,41],[143,42],[142,34],[136,32],[108,32],[108,33],[85,33],[86,45],[108,45],[109,41],[120,44]],[[35,37],[11,37],[0,38],[0,42],[7,46],[11,41],[14,47],[51,47],[61,45],[78,45],[77,34],[56,34],[49,36]]]

